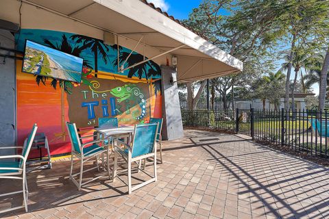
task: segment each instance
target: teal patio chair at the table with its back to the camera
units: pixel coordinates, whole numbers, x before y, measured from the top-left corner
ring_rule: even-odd
[[[125,144],[120,140],[114,140],[114,168],[112,172],[112,179],[118,177],[117,175],[117,166],[118,166],[118,157],[121,156],[125,163],[127,163],[127,178],[128,182],[125,183],[128,186],[128,193],[131,194],[132,191],[137,190],[138,188],[143,187],[151,182],[157,180],[156,177],[156,135],[158,130],[158,124],[147,124],[147,125],[135,125],[134,136],[131,145]],[[126,149],[122,149],[118,144],[124,145]],[[141,168],[139,168],[138,161],[142,159],[147,159],[148,157],[153,157],[154,163],[154,175],[151,176]],[[138,185],[132,187],[132,163],[137,164],[138,170],[141,170],[146,175],[151,177],[151,179],[144,181]]]

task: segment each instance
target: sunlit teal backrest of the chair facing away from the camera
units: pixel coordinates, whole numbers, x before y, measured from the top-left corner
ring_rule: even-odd
[[[135,125],[132,158],[154,152],[158,124]]]

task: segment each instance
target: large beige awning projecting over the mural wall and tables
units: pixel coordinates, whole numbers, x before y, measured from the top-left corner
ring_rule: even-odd
[[[138,0],[23,0],[178,57],[178,81],[241,72],[243,63]],[[130,48],[131,49],[131,48]]]

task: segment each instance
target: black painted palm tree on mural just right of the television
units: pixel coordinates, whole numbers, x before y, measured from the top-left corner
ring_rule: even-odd
[[[98,72],[98,54],[101,55],[105,64],[108,63],[108,52],[110,51],[110,46],[103,43],[103,40],[96,38],[91,38],[89,36],[83,36],[80,34],[75,34],[71,36],[72,40],[76,43],[82,43],[82,49],[90,49],[94,53],[94,70],[95,73]],[[111,46],[112,49],[117,49],[117,45]]]

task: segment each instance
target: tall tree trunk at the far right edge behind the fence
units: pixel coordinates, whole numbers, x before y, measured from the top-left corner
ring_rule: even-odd
[[[319,110],[324,110],[324,104],[326,102],[326,88],[327,88],[327,74],[329,68],[329,47],[324,57],[324,64],[321,69],[320,86],[319,86]]]

